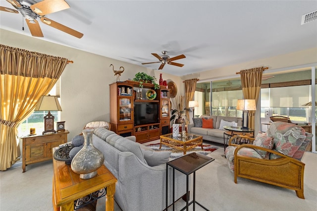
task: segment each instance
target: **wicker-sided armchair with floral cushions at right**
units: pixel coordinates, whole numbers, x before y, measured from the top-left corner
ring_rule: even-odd
[[[287,122],[273,122],[256,138],[233,136],[225,150],[229,169],[237,177],[252,179],[296,191],[304,199],[304,167],[301,159],[313,135]],[[231,144],[236,139],[248,143]]]

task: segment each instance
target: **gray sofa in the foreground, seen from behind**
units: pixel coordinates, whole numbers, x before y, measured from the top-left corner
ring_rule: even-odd
[[[169,159],[170,152],[152,153],[152,149],[105,128],[95,129],[93,145],[104,154],[104,164],[118,179],[114,199],[122,211],[162,211],[165,209],[166,161]],[[151,160],[149,154],[152,156]],[[148,164],[150,161],[152,165],[153,163],[159,165],[150,166]],[[170,205],[172,203],[172,170],[168,170],[168,173],[168,205]],[[185,194],[186,175],[175,171],[175,199]]]

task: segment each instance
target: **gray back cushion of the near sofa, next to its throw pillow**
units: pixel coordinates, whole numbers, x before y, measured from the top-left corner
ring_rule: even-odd
[[[122,136],[119,136],[117,134],[114,134],[117,137],[112,137],[108,136],[106,139],[106,142],[110,144],[112,147],[116,148],[117,150],[120,150],[121,152],[131,152],[133,153],[137,158],[139,158],[142,162],[148,164],[146,160],[144,159],[143,152],[139,146],[139,143],[133,142],[129,139],[126,139]]]

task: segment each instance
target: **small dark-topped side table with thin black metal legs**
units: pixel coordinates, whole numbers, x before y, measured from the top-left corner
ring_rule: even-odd
[[[196,202],[195,199],[195,182],[196,182],[196,171],[200,169],[201,167],[207,165],[211,161],[213,161],[214,158],[210,158],[208,156],[204,156],[198,153],[190,153],[187,155],[184,155],[180,158],[176,158],[174,160],[171,160],[166,163],[166,211],[168,208],[168,166],[171,166],[173,168],[173,211],[174,211],[174,204],[175,204],[175,187],[174,187],[174,181],[175,181],[175,169],[182,172],[183,174],[186,174],[186,206],[182,209],[188,211],[188,207],[193,204],[193,210],[195,210],[195,204],[198,204],[202,208],[208,211],[207,208],[202,206],[200,203]],[[189,175],[191,173],[194,173],[194,178],[193,178],[193,201],[189,202]]]

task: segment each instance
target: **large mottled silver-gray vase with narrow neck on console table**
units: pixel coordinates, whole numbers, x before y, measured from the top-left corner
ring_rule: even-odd
[[[104,155],[93,145],[93,133],[95,129],[83,130],[85,138],[84,147],[71,161],[71,169],[80,174],[81,179],[90,179],[97,175],[97,169],[104,163]]]

